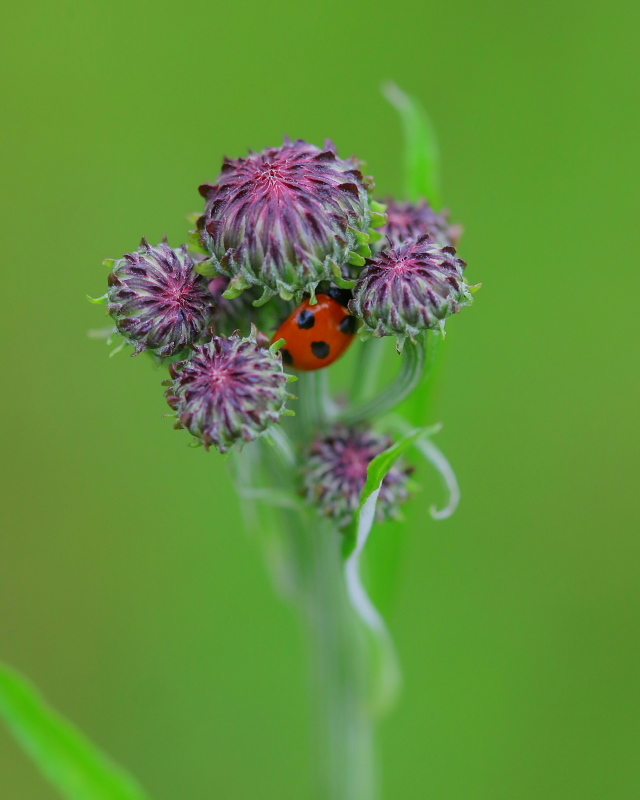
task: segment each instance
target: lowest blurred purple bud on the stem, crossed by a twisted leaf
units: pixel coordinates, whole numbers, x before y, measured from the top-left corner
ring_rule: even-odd
[[[308,502],[330,517],[338,527],[353,520],[367,480],[370,462],[391,446],[389,436],[370,429],[336,425],[311,445],[304,472]],[[399,515],[399,506],[409,496],[411,467],[396,464],[382,482],[376,518]]]

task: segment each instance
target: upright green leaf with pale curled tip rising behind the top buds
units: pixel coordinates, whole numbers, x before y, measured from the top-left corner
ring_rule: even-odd
[[[416,202],[426,198],[438,209],[440,196],[440,153],[435,128],[427,112],[395,83],[385,83],[382,91],[396,108],[405,136],[405,193]]]

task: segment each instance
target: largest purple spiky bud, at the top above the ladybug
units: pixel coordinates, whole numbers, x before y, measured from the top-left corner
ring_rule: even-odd
[[[386,217],[371,204],[371,180],[354,158],[339,158],[302,139],[285,139],[247,158],[225,159],[214,184],[204,184],[200,241],[211,254],[199,269],[231,278],[227,297],[249,286],[262,301],[299,300],[321,280],[342,280],[347,263],[370,254],[370,226]]]

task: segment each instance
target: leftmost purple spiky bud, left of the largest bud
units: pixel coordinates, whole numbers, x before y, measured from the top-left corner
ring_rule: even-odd
[[[135,253],[108,261],[107,301],[118,332],[135,347],[171,356],[207,336],[213,297],[194,270],[186,247],[168,242],[151,247],[146,239]]]

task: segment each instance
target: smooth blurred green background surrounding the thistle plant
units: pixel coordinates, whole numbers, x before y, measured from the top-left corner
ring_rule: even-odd
[[[431,111],[461,255],[438,443],[390,622],[385,800],[640,795],[636,3],[28,0],[2,48],[0,657],[156,800],[313,796],[304,638],[221,458],[175,433],[85,293],[180,243],[223,154],[284,133],[401,183]],[[0,796],[53,790],[0,731]]]

